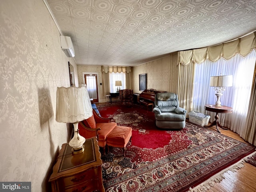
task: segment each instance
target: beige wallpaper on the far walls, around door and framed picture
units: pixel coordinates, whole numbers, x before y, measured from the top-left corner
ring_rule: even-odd
[[[178,54],[175,52],[169,56],[133,67],[133,92],[141,93],[139,90],[139,74],[146,73],[148,89],[176,93],[178,80],[177,59]],[[78,65],[77,71],[79,86],[81,86],[84,79],[83,72],[98,73],[99,102],[105,102],[102,86],[99,85],[102,82],[101,66]]]

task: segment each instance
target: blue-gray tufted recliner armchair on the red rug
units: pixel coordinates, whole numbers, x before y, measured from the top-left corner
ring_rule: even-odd
[[[182,129],[186,125],[187,111],[179,107],[178,95],[175,93],[156,94],[153,112],[158,128]]]

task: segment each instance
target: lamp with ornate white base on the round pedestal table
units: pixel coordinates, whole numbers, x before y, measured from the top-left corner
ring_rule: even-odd
[[[210,86],[214,87],[216,91],[217,101],[215,107],[221,107],[220,97],[223,95],[226,87],[231,87],[233,85],[233,76],[232,75],[223,75],[223,76],[211,76],[210,77]]]

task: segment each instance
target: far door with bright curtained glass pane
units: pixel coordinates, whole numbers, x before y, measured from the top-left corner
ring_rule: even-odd
[[[97,75],[96,74],[85,74],[84,82],[87,86],[88,94],[93,102],[98,103],[98,86],[97,86]]]

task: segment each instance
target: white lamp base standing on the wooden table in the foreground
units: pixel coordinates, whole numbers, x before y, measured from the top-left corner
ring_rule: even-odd
[[[74,125],[74,137],[70,140],[69,146],[72,147],[73,154],[79,154],[84,152],[85,138],[79,134],[78,123]]]

